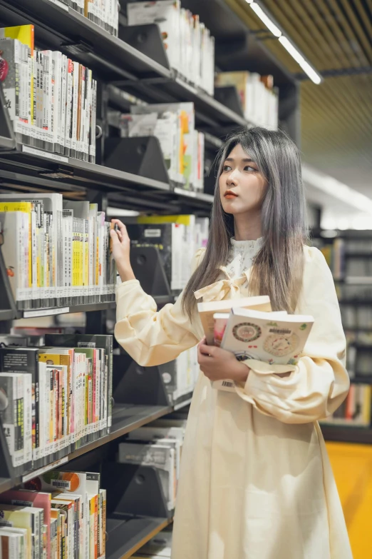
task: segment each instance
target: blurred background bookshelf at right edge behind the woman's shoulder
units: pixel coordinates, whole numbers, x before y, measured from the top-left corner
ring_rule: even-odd
[[[347,363],[352,388],[362,387],[367,395],[372,386],[372,297],[370,293],[371,231],[313,231],[313,243],[324,252],[334,275],[343,328],[346,333]],[[363,388],[365,387],[365,388]],[[354,389],[351,391],[353,393]],[[351,398],[350,394],[348,398]],[[367,396],[368,398],[368,396]],[[369,400],[369,416],[372,399]],[[346,401],[347,402],[347,401]],[[356,407],[351,403],[351,407]],[[347,404],[346,404],[347,406]],[[350,413],[350,412],[349,412]],[[367,413],[368,416],[368,413]],[[371,418],[370,418],[371,419]],[[352,443],[372,443],[372,425],[364,421],[335,418],[321,423],[324,438]]]

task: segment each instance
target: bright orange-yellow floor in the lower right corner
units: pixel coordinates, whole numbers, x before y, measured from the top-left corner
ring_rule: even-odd
[[[327,443],[353,559],[372,558],[372,445]]]

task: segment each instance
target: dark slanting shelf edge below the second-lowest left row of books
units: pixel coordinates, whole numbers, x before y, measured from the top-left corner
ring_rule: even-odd
[[[154,407],[154,406],[150,406],[150,407]],[[88,452],[90,452],[91,450],[94,450],[95,448],[98,448],[100,446],[103,446],[107,443],[109,443],[111,440],[115,440],[116,438],[119,438],[123,435],[126,435],[127,433],[130,433],[130,431],[138,429],[140,427],[143,427],[143,425],[146,425],[147,423],[150,423],[151,421],[154,421],[155,419],[159,419],[162,416],[166,416],[167,413],[171,413],[173,411],[172,406],[164,406],[162,408],[160,408],[159,410],[157,410],[156,412],[150,413],[148,416],[140,416],[140,418],[138,418],[138,420],[133,420],[133,418],[128,419],[128,423],[126,425],[123,425],[122,427],[118,428],[117,430],[113,430],[111,431],[111,433],[108,433],[108,435],[105,435],[104,437],[99,438],[98,440],[93,441],[93,443],[88,443],[86,445],[83,445],[81,448],[78,448],[76,450],[74,450],[72,453],[68,454],[65,458],[62,458],[63,463],[69,462],[70,460],[73,460],[74,458],[78,458],[78,456],[81,456],[83,454],[86,454]],[[122,423],[122,422],[120,422]],[[57,461],[58,462],[58,461]],[[53,468],[56,467],[56,463],[53,462],[50,464],[50,468],[48,468],[48,465],[45,466],[45,469],[43,468],[43,471],[48,471],[48,470],[52,470]],[[16,487],[17,485],[20,485],[22,483],[22,478],[24,478],[24,476],[28,476],[32,473],[32,470],[30,472],[25,472],[23,475],[19,475],[16,478],[1,478],[0,479],[0,493],[3,493],[6,490],[9,490],[13,487]],[[38,470],[35,470],[35,475],[37,475]]]

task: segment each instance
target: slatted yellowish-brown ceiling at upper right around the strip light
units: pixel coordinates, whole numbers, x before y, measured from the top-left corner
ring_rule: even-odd
[[[225,2],[249,29],[264,29],[245,0]],[[301,81],[304,160],[372,198],[372,0],[259,4],[314,68],[329,76],[319,86]],[[289,71],[299,73],[279,41],[269,39],[264,45]]]

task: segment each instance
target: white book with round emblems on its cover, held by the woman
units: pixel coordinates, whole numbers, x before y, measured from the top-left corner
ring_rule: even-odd
[[[312,316],[252,309],[231,309],[228,316],[215,313],[215,340],[234,353],[239,361],[256,359],[266,363],[296,365],[314,323]],[[226,325],[224,327],[224,324]],[[212,383],[213,388],[234,391],[228,379]]]

